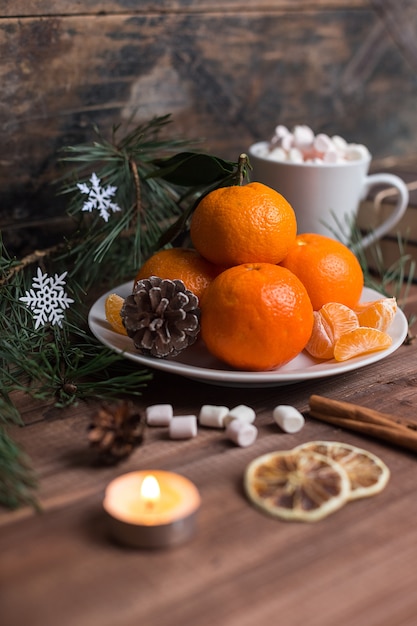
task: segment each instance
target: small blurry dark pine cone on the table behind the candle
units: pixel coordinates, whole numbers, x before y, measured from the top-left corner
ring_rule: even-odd
[[[93,416],[88,439],[101,462],[111,465],[131,454],[142,442],[143,423],[130,402],[103,406]]]

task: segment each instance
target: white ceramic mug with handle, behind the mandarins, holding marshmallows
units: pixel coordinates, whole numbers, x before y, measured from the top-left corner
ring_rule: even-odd
[[[376,185],[394,187],[398,198],[388,218],[358,242],[362,248],[390,231],[407,209],[405,183],[394,174],[368,175],[370,155],[342,163],[291,163],[262,156],[267,145],[261,141],[250,146],[250,178],[276,189],[288,200],[297,217],[298,233],[319,233],[348,243],[359,204]]]

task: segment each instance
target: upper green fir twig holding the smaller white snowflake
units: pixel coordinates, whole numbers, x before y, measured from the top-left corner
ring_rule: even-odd
[[[89,268],[91,282],[96,280],[94,269],[103,262],[114,262],[119,274],[113,280],[132,275],[149,256],[161,234],[161,227],[182,212],[178,205],[178,190],[163,178],[148,178],[157,169],[154,161],[185,146],[179,139],[160,139],[160,131],[170,122],[169,116],[154,118],[119,139],[120,126],[113,129],[112,140],[104,139],[96,128],[97,140],[91,144],[69,146],[64,150],[63,163],[71,164],[71,178],[63,193],[71,194],[68,212],[80,220],[87,237],[73,247],[74,261]],[[92,168],[100,180],[117,188],[116,200],[122,211],[108,223],[97,215],[85,216],[77,184],[86,182]],[[87,223],[87,228],[85,228]],[[130,240],[120,245],[120,238]]]

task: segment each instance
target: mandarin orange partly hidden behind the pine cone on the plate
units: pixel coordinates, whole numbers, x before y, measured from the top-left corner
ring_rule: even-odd
[[[149,276],[179,278],[200,300],[204,290],[223,268],[216,267],[192,248],[169,248],[153,254],[139,269],[135,283]]]

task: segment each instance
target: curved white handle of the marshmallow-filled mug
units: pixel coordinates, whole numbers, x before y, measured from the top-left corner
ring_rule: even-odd
[[[382,224],[377,226],[372,233],[369,233],[369,235],[362,238],[360,241],[360,246],[362,248],[367,248],[390,231],[400,221],[408,206],[408,189],[404,181],[401,180],[399,176],[385,172],[367,176],[365,178],[362,199],[366,198],[369,190],[375,185],[387,185],[388,187],[394,187],[398,192],[397,203],[395,207],[393,207],[389,217],[387,217]]]

